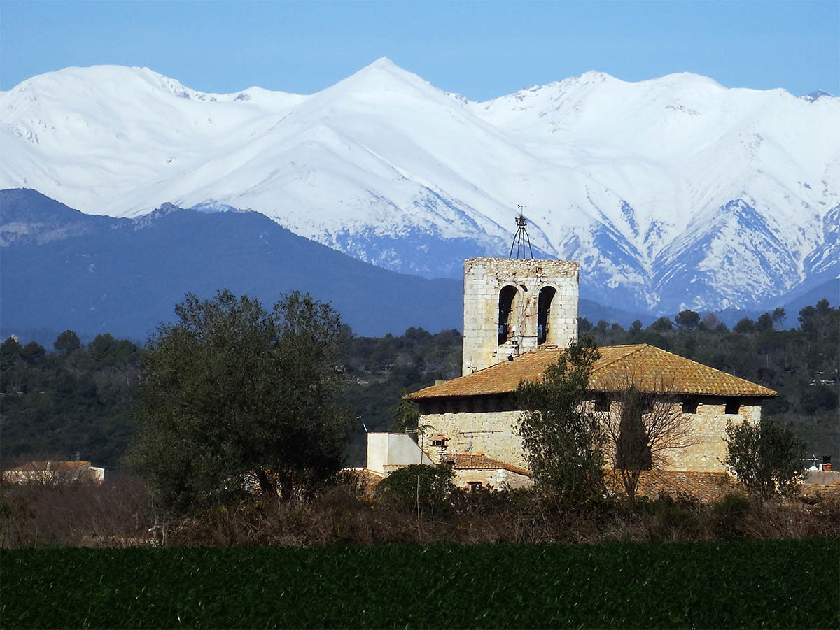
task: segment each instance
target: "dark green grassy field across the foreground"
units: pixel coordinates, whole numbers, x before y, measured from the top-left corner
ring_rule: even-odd
[[[840,541],[3,551],[2,627],[840,627]]]

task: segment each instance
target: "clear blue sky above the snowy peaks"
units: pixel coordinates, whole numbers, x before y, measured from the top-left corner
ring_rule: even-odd
[[[143,65],[201,91],[318,91],[386,56],[474,100],[601,70],[840,95],[823,2],[13,2],[0,89],[68,65]]]

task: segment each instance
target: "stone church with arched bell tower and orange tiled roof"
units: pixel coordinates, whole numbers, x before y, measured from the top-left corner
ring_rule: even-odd
[[[531,482],[513,393],[540,380],[559,352],[577,339],[579,264],[533,258],[470,258],[464,263],[463,376],[412,394],[420,409],[417,459],[387,453],[381,472],[407,463],[449,463],[463,486],[517,487]],[[722,471],[727,421],[761,418],[771,389],[644,344],[599,348],[591,404],[610,413],[633,384],[667,393],[691,440],[669,452],[672,471]],[[369,440],[370,444],[370,440]],[[369,448],[370,450],[370,448]],[[395,451],[396,452],[396,451]],[[413,457],[413,456],[412,456]]]

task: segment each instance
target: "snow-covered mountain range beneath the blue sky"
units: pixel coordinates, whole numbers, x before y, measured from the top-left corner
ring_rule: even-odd
[[[310,96],[68,68],[0,92],[0,187],[110,216],[250,208],[429,277],[507,255],[527,204],[593,299],[749,308],[837,277],[840,99],[588,72],[477,103],[386,59]]]

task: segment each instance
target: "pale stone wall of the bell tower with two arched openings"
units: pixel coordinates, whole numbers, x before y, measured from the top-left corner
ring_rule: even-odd
[[[572,260],[470,258],[464,262],[463,374],[535,350],[538,302],[543,288],[556,290],[549,310],[546,344],[566,346],[577,339],[580,265]],[[501,289],[516,289],[508,341],[499,344]]]

